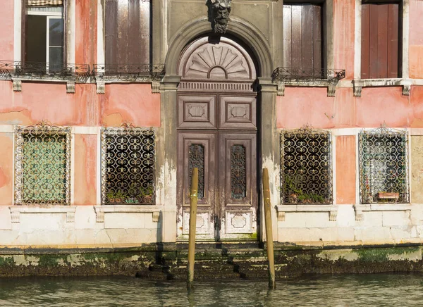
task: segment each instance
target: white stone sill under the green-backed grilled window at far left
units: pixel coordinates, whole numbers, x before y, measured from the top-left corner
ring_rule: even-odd
[[[10,206],[12,223],[20,223],[21,213],[66,213],[66,223],[75,222],[75,206]]]

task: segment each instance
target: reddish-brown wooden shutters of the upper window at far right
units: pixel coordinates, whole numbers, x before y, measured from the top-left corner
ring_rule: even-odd
[[[399,5],[362,5],[362,79],[399,77]]]

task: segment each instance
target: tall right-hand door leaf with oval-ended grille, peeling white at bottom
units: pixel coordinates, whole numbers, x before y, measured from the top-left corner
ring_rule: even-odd
[[[257,238],[256,133],[219,132],[220,239]]]

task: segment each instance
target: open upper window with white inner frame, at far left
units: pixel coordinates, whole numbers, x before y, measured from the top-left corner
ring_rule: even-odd
[[[61,71],[65,63],[64,1],[24,2],[23,60],[37,65],[37,69],[45,68],[49,73]]]

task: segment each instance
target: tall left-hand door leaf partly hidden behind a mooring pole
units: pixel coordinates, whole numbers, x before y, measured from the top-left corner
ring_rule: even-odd
[[[178,239],[188,239],[192,168],[198,168],[197,239],[214,240],[216,132],[178,134]]]

